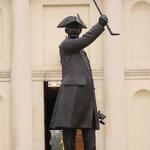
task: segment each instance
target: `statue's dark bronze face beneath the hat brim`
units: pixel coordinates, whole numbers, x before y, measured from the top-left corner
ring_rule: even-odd
[[[69,38],[75,39],[79,37],[82,31],[82,27],[79,26],[78,24],[72,24],[66,27],[65,31],[68,34]]]

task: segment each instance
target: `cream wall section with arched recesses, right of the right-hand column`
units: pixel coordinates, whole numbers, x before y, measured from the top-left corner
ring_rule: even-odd
[[[149,149],[149,2],[124,3],[125,94],[129,150]],[[142,22],[146,23],[145,26]]]

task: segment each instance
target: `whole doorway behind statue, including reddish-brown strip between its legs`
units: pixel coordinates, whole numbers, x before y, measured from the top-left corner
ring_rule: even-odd
[[[49,124],[51,121],[52,112],[53,112],[53,108],[55,105],[58,91],[59,91],[59,87],[51,86],[51,84],[49,84],[48,81],[44,82],[45,150],[62,150],[62,148],[60,148],[60,146],[58,146],[60,144],[60,142],[58,142],[58,140],[57,140],[58,137],[56,139],[54,138],[54,134],[56,134],[56,136],[57,136],[60,133],[54,133],[57,131],[50,130],[50,128],[49,128]],[[54,141],[52,139],[55,140],[55,147],[53,147],[54,146],[53,144],[52,145],[50,144],[50,141],[51,141],[51,143],[54,143]],[[76,150],[84,149],[81,130],[78,130],[75,142],[76,142]],[[61,147],[62,147],[62,145],[61,145]]]

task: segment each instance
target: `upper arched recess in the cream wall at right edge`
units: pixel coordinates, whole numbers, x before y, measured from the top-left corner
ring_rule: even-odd
[[[131,50],[136,58],[150,57],[150,4],[138,2],[132,7]]]

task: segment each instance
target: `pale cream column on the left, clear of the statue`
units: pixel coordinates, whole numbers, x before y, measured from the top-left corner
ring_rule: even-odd
[[[33,150],[29,0],[12,0],[12,146]]]

